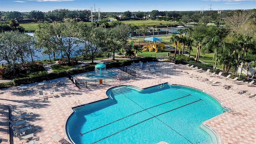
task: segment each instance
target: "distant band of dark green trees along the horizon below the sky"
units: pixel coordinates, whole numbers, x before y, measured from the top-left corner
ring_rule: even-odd
[[[223,18],[226,16],[232,16],[236,13],[242,12],[256,12],[256,9],[252,10],[223,10],[221,14],[218,14],[218,11],[204,11],[200,13],[200,11],[158,11],[152,10],[151,12],[130,12],[129,10],[126,12],[100,12],[100,19],[104,18],[138,18],[138,19],[158,19],[158,20],[169,20],[176,22],[184,22],[190,23],[195,22],[198,23],[201,19],[206,21],[215,21],[222,22]],[[89,22],[91,21],[91,11],[90,10],[52,10],[49,12],[41,12],[32,10],[31,12],[1,12],[1,21],[10,21],[14,20],[27,20],[32,19],[36,21],[64,21],[65,19],[74,19],[76,21]],[[98,20],[98,12],[93,12],[93,19]]]

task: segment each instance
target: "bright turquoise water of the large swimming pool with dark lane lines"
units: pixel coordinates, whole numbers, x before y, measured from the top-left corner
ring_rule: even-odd
[[[223,112],[214,98],[184,86],[110,88],[108,100],[76,110],[67,134],[76,144],[194,144],[215,141],[199,126]],[[216,137],[215,137],[216,138]]]

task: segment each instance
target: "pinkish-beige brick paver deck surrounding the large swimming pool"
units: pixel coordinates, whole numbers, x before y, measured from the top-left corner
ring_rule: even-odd
[[[158,80],[168,82],[170,84],[179,84],[190,86],[204,90],[218,98],[224,106],[232,108],[232,112],[225,112],[216,116],[206,122],[212,127],[220,136],[223,144],[255,144],[256,143],[256,100],[248,96],[238,94],[239,90],[250,91],[256,94],[256,87],[247,85],[238,85],[238,91],[234,92],[227,90],[220,86],[213,86],[197,78],[190,78],[186,72],[194,72],[195,75],[204,76],[205,78],[214,78],[218,82],[225,81],[227,86],[231,88],[235,85],[229,80],[224,80],[219,77],[210,77],[202,72],[188,70],[186,66],[181,64],[174,64],[169,62],[158,62],[157,69],[160,72],[150,73],[148,68],[137,71],[138,76],[128,79],[120,80],[118,82],[110,82],[98,86],[85,88],[79,90],[68,78],[59,78],[60,85],[58,89],[61,96],[52,96],[44,100],[39,99],[39,92],[41,90],[36,84],[32,85],[32,90],[22,92],[16,87],[6,88],[0,90],[0,138],[10,140],[9,126],[8,126],[8,109],[5,106],[12,107],[16,110],[28,110],[33,112],[33,118],[28,120],[28,124],[32,125],[32,132],[34,138],[40,137],[37,143],[55,144],[51,136],[58,134],[68,140],[65,130],[66,120],[72,114],[72,107],[75,107],[75,102],[80,101],[81,104],[87,104],[107,98],[106,90],[116,85],[131,85],[139,88],[147,88],[159,84]],[[174,68],[172,67],[174,66]],[[116,69],[119,71],[118,69]],[[50,81],[47,81],[48,83]],[[26,85],[28,86],[28,85]],[[42,89],[44,94],[54,91],[53,87]],[[69,92],[76,91],[77,94]],[[7,121],[7,122],[6,122]],[[164,140],[162,140],[164,141]],[[13,137],[14,144],[20,144],[17,137]],[[10,144],[10,142],[2,142],[1,144]]]

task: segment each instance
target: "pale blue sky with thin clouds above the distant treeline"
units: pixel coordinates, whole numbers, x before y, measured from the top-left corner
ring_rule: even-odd
[[[56,9],[92,10],[96,12],[151,12],[194,10],[248,10],[256,0],[0,0],[0,11],[48,12]]]

